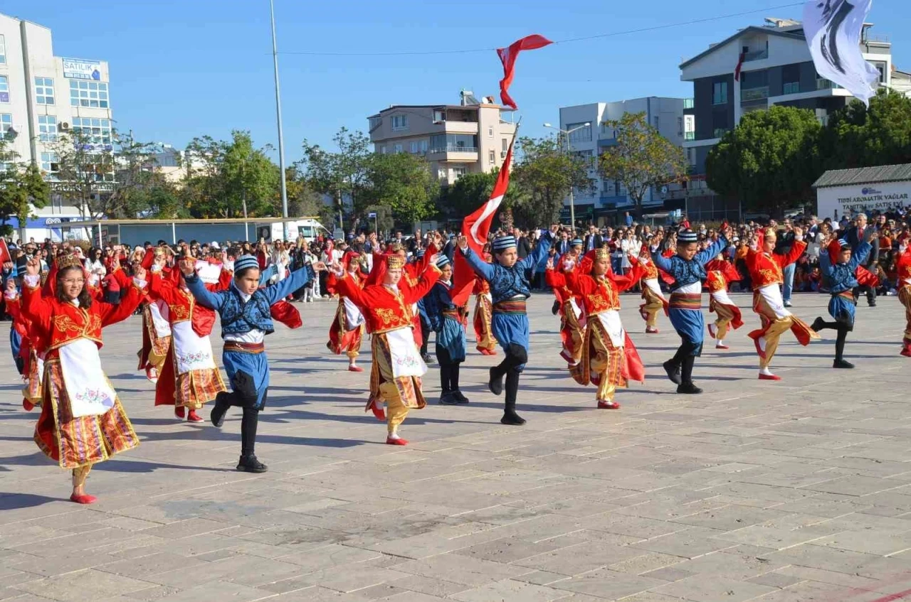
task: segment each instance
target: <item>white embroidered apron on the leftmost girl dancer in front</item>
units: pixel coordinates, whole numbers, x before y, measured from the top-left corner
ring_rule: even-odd
[[[101,416],[114,407],[116,394],[101,369],[101,356],[95,343],[77,338],[57,351],[73,417]]]

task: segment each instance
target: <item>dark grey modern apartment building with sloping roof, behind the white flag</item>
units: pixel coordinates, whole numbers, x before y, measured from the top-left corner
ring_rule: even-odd
[[[906,91],[907,74],[895,69],[892,45],[865,24],[861,38],[864,58],[879,70],[879,85]],[[740,76],[735,77],[738,65]],[[681,80],[692,82],[693,98],[685,115],[695,129],[684,142],[691,171],[705,174],[705,157],[742,115],[772,105],[798,106],[815,112],[820,121],[853,96],[816,73],[804,37],[804,26],[790,19],[767,18],[762,26],[746,27],[681,65]]]

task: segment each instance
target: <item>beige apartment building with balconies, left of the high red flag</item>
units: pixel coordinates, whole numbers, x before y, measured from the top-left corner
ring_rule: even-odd
[[[503,165],[516,134],[512,109],[463,90],[458,105],[392,105],[368,117],[377,153],[423,156],[442,186]]]

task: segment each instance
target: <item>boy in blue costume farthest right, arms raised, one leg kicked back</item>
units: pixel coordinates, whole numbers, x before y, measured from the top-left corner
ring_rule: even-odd
[[[839,251],[851,248],[851,245],[846,240],[839,240],[838,243]],[[826,322],[822,317],[817,317],[812,327],[816,332],[831,328],[838,333],[835,338],[835,361],[833,364],[833,367],[836,368],[854,367],[853,364],[844,361],[844,342],[847,340],[848,333],[854,330],[855,308],[857,306],[854,289],[858,286],[857,266],[864,263],[872,248],[870,243],[861,242],[848,262],[835,263],[832,256],[826,252],[826,249],[823,249],[822,253],[819,254],[819,266],[820,271],[823,273],[823,281],[832,295],[829,300],[829,315],[835,319],[834,322]]]

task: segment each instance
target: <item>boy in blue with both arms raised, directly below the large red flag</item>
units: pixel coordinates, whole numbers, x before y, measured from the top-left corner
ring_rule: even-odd
[[[526,300],[531,296],[531,286],[526,273],[535,273],[535,268],[548,256],[553,243],[549,232],[537,241],[535,250],[512,267],[498,263],[488,264],[477,256],[470,247],[460,248],[468,265],[478,276],[490,285],[494,312],[491,330],[506,354],[499,366],[490,368],[490,390],[494,395],[503,393],[503,377],[506,376],[506,411],[500,420],[505,425],[523,425],[525,420],[516,414],[518,376],[528,361],[528,315]],[[494,256],[510,247],[516,247],[515,236],[500,236],[494,240]]]

